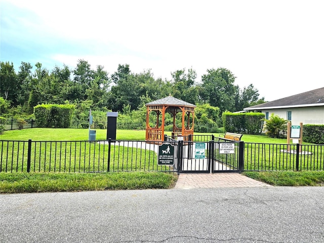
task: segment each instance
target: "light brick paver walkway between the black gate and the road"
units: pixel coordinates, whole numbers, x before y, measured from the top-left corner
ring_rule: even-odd
[[[180,174],[175,188],[268,187],[266,183],[239,173]]]

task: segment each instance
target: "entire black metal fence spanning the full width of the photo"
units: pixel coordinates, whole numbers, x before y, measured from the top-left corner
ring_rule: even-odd
[[[187,168],[192,168],[192,163],[199,168],[201,163],[215,163],[215,160],[218,161],[218,169],[213,172],[224,172],[224,166],[239,172],[324,171],[324,145],[241,141],[235,143],[235,154],[231,157],[218,154],[220,141],[212,135],[193,135],[192,140],[187,142],[168,138],[166,142],[175,146],[173,166],[158,165],[159,142],[0,140],[0,172],[180,172],[184,170],[182,165],[185,163]],[[197,142],[207,144],[205,160],[193,159],[192,147]],[[237,153],[236,149],[241,151]]]

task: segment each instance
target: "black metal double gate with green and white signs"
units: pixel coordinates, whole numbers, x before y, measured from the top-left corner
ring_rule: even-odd
[[[244,142],[180,141],[177,146],[179,173],[242,172]]]

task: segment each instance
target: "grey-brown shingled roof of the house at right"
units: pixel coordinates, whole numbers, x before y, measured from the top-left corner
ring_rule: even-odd
[[[244,110],[257,110],[262,108],[299,107],[324,105],[324,87],[307,91],[298,95],[292,95],[263,104],[250,106]]]

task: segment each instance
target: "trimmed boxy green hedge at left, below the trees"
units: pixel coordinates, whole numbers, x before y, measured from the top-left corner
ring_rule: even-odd
[[[40,128],[69,128],[74,105],[37,105],[34,107],[36,126]]]

